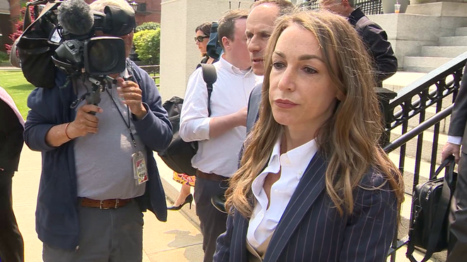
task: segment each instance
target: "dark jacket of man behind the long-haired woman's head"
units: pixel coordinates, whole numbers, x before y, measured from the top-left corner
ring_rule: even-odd
[[[386,32],[360,10],[355,9],[348,18],[350,24],[357,30],[362,40],[374,58],[376,70],[376,84],[383,86],[383,81],[397,71],[397,59],[394,56],[391,43]]]

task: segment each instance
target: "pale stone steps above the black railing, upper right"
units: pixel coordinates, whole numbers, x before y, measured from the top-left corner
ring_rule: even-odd
[[[456,28],[454,36],[439,37],[437,46],[422,47],[421,56],[405,56],[403,70],[428,73],[467,51],[467,27]]]

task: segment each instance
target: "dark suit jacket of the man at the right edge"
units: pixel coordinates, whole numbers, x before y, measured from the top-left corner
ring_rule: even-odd
[[[466,64],[467,66],[467,64]],[[454,108],[451,114],[451,123],[449,124],[449,136],[462,136],[462,152],[467,154],[467,136],[466,133],[467,121],[467,67],[463,70],[461,88],[454,102]]]

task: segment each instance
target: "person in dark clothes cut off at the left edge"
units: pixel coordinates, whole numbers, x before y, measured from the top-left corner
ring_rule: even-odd
[[[23,149],[23,119],[13,99],[0,88],[0,260],[24,260],[23,237],[18,230],[11,202],[13,173]]]

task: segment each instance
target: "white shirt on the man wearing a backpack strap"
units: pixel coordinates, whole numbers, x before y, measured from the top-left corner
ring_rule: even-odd
[[[207,112],[207,88],[202,69],[192,73],[180,114],[180,137],[184,141],[200,141],[192,166],[205,173],[231,177],[237,170],[238,152],[245,140],[246,127],[237,126],[216,138],[209,139],[211,117],[238,112],[248,105],[251,90],[263,81],[249,69],[244,72],[223,57],[213,64],[217,81],[211,94],[211,116]]]

